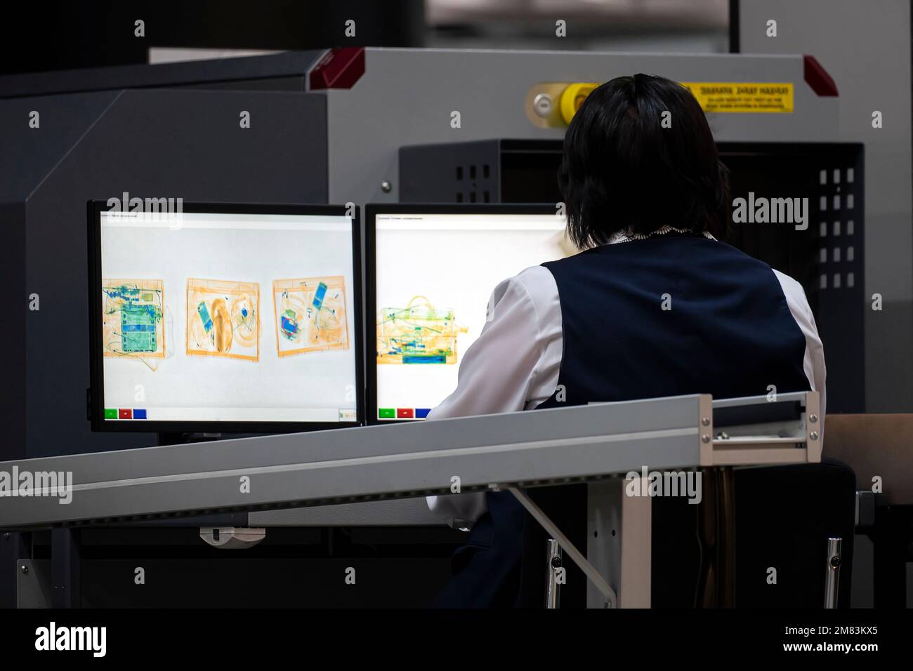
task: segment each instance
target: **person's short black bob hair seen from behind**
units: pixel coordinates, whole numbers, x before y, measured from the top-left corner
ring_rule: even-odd
[[[612,79],[587,96],[564,136],[568,236],[586,249],[670,225],[723,239],[728,174],[690,91],[650,75]]]

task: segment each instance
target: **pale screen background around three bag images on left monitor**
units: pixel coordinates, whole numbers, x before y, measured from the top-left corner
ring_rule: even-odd
[[[318,413],[323,421],[338,421],[338,409],[355,407],[360,336],[354,327],[348,217],[184,213],[181,227],[172,230],[167,222],[151,225],[142,217],[103,215],[101,274],[104,279],[163,280],[167,348],[167,358],[154,372],[140,361],[106,357],[105,407],[148,408],[150,421],[156,419],[155,408],[205,409],[204,416],[186,419],[207,421],[312,421],[314,413],[299,409],[326,409]],[[345,278],[349,349],[280,360],[273,280],[333,275]],[[187,356],[187,278],[259,284],[259,362]],[[144,401],[136,400],[137,385],[143,387]]]

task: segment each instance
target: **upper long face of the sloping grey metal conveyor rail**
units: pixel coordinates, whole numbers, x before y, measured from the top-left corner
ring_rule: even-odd
[[[305,434],[143,447],[0,462],[30,471],[71,471],[76,485],[133,477],[173,477],[224,469],[317,464],[339,459],[411,455],[572,437],[627,435],[697,426],[697,394],[645,401],[454,417],[402,425],[329,429]],[[446,486],[449,487],[448,474]]]

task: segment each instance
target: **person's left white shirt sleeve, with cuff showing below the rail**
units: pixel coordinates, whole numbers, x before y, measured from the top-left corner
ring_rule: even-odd
[[[528,410],[548,399],[561,367],[561,303],[545,267],[530,267],[498,284],[485,327],[459,363],[456,391],[428,420]],[[485,494],[428,497],[428,508],[451,521],[475,522]]]

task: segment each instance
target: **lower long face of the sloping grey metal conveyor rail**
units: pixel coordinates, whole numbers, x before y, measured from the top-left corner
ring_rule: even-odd
[[[585,444],[553,444],[538,448],[534,463],[524,454],[523,447],[511,447],[485,454],[479,451],[408,456],[393,461],[368,459],[366,463],[237,468],[196,477],[153,478],[116,490],[78,489],[69,505],[47,497],[12,498],[0,512],[0,527],[446,494],[451,474],[463,477],[463,491],[474,491],[485,489],[492,480],[530,486],[538,481],[546,484],[587,474],[625,473],[645,462],[664,469],[681,468],[698,463],[697,434],[695,428],[692,435],[657,435],[611,446],[595,439]],[[239,478],[245,476],[251,478],[250,493],[239,492]]]

